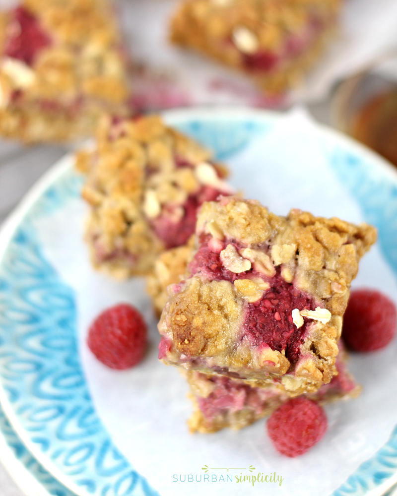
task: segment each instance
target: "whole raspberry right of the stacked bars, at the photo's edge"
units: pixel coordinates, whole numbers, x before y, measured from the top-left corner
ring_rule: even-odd
[[[387,296],[371,289],[351,293],[342,330],[348,348],[354,351],[380,350],[392,341],[396,328],[396,306]]]

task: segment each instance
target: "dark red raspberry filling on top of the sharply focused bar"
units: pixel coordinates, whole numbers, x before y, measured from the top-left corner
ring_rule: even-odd
[[[207,280],[249,279],[261,277],[270,284],[263,297],[255,303],[248,303],[243,324],[242,338],[247,337],[253,346],[268,345],[272,350],[285,352],[290,362],[299,358],[300,346],[303,343],[307,326],[305,323],[297,328],[292,320],[292,310],[314,310],[313,298],[286,282],[277,268],[274,277],[264,277],[252,268],[246,272],[235,274],[226,269],[220,259],[220,251],[232,244],[237,251],[243,247],[239,243],[214,242],[209,235],[201,235],[199,249],[189,265],[192,275],[199,273]]]

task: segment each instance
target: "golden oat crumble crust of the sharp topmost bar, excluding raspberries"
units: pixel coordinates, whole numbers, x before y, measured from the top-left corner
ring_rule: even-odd
[[[294,394],[315,391],[330,382],[350,283],[359,259],[376,240],[375,229],[300,210],[279,217],[254,200],[228,197],[206,202],[200,209],[197,235],[211,232],[214,239],[223,238],[222,247],[233,247],[229,242],[247,247],[240,248],[239,253],[235,250],[234,255],[231,251],[231,256],[236,257],[234,268],[230,257],[223,258],[223,263],[229,264],[229,270],[239,272],[241,259],[248,258],[248,269],[252,266],[262,272],[259,282],[258,277],[238,280],[258,285],[255,298],[262,298],[279,270],[286,282],[316,302],[316,310],[295,310],[302,320],[300,325],[303,317],[309,322],[300,358],[290,363],[284,352],[269,347],[256,349],[244,340],[237,346],[242,317],[236,315],[244,315],[247,302],[252,301],[248,299],[252,293],[244,292],[247,283],[210,281],[198,273],[171,291],[163,311],[159,330],[174,345],[165,361],[181,365],[181,357],[188,356],[193,363],[189,365],[183,359],[184,366],[198,370],[216,366],[225,373],[239,373],[259,381],[266,375],[280,377],[281,387]],[[221,260],[223,252],[227,249],[221,252]],[[270,267],[266,260],[271,260]]]

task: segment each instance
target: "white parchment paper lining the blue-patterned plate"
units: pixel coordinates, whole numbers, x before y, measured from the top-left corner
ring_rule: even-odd
[[[232,183],[279,214],[300,207],[359,222],[360,211],[329,168],[316,133],[300,115],[283,119],[229,161]],[[36,228],[46,257],[76,292],[81,360],[97,412],[133,467],[162,496],[327,495],[385,444],[397,424],[396,342],[386,350],[351,357],[349,366],[363,393],[327,406],[327,434],[304,456],[278,455],[265,434],[264,420],[239,432],[189,434],[187,385],[176,369],[157,361],[159,336],[144,283],[118,283],[91,269],[81,241],[84,215],[82,202],[71,200],[36,222]],[[397,301],[396,280],[377,247],[363,258],[354,286],[379,288]],[[102,366],[85,343],[94,317],[120,302],[131,302],[150,324],[150,349],[139,366],[126,372]],[[249,473],[253,465],[255,474],[275,472],[283,481],[281,486],[254,487],[235,479],[188,482],[189,474],[198,479],[204,475],[204,465],[239,469],[210,470],[210,480],[212,474],[223,474],[226,480],[226,475]],[[180,476],[182,481],[186,476],[186,482]]]

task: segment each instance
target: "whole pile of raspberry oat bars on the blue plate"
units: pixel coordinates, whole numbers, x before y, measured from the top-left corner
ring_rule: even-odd
[[[77,167],[93,264],[147,276],[159,358],[191,388],[192,432],[359,392],[339,338],[374,228],[233,195],[224,166],[158,116],[103,119]]]

